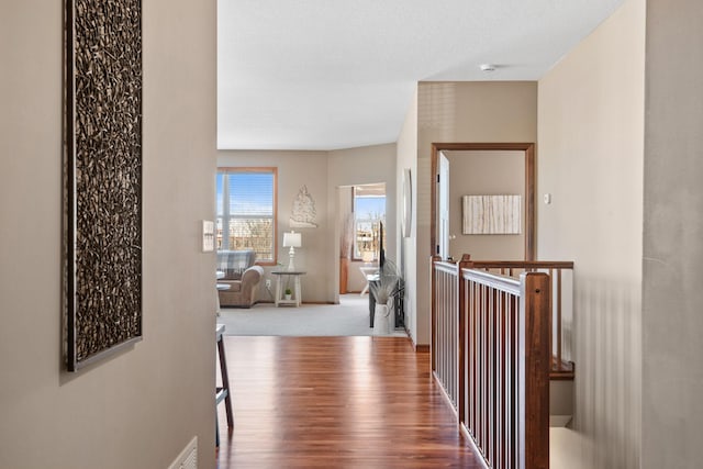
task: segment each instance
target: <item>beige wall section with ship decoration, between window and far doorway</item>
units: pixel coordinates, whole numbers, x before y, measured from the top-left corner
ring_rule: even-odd
[[[301,277],[302,301],[326,303],[333,301],[327,286],[332,272],[326,252],[332,242],[334,220],[330,217],[327,197],[327,152],[305,150],[219,150],[219,167],[276,167],[278,168],[277,208],[277,260],[289,263],[288,248],[283,247],[283,232],[290,232],[293,201],[305,186],[315,203],[317,227],[293,228],[301,233],[302,247],[295,249],[295,267],[306,273]],[[214,194],[213,194],[214,200]],[[214,215],[213,215],[214,216]],[[276,266],[265,266],[265,276],[276,284],[270,271]],[[259,283],[258,301],[274,301],[274,289],[266,291],[266,282]]]

